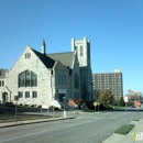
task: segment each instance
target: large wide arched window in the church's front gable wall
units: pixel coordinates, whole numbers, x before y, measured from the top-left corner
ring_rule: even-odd
[[[19,75],[19,87],[37,87],[37,75],[25,70]]]

